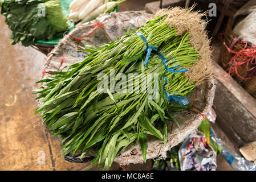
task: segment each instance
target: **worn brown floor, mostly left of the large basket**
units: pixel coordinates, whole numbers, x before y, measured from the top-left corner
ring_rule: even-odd
[[[120,11],[143,10],[146,2],[151,1],[127,1]],[[42,75],[46,56],[32,47],[12,46],[8,38],[11,31],[2,15],[0,26],[0,170],[83,169],[88,164],[60,158],[60,142],[46,133],[39,114],[34,115],[37,103],[31,92]],[[127,169],[150,169],[151,164],[147,165]],[[230,169],[222,158],[218,165],[219,169]],[[113,165],[112,169],[120,167]]]

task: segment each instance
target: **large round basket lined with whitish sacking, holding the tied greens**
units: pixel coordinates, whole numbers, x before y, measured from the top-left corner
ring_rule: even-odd
[[[151,14],[141,11],[126,11],[122,13],[101,14],[96,20],[82,24],[82,26],[70,32],[74,38],[83,37],[80,42],[82,44],[75,43],[68,35],[64,36],[58,46],[48,54],[46,64],[44,68],[42,68],[46,74],[43,75],[42,78],[47,78],[49,76],[48,73],[58,71],[68,64],[76,63],[83,59],[84,55],[76,51],[78,47],[83,49],[82,45],[101,46],[103,43],[117,40],[126,33],[127,28],[137,30],[141,24],[147,22],[151,16]],[[103,26],[95,28],[95,23],[103,24]],[[88,34],[88,32],[93,32],[93,34]],[[65,61],[62,61],[63,59],[65,59]],[[157,156],[165,158],[166,151],[182,142],[189,134],[196,132],[197,127],[205,119],[205,115],[213,104],[215,89],[215,82],[213,78],[211,78],[209,81],[196,86],[196,88],[188,94],[187,98],[190,104],[194,105],[194,108],[197,109],[174,115],[178,123],[180,123],[180,128],[173,124],[168,125],[170,133],[168,133],[166,146],[155,137],[148,138],[147,159],[153,159]],[[90,154],[88,154],[88,156],[90,156]],[[65,159],[69,162],[85,162],[91,158],[79,160],[78,158],[65,156]],[[130,163],[143,163],[144,159],[139,144],[130,144],[116,156],[114,161],[124,166]]]

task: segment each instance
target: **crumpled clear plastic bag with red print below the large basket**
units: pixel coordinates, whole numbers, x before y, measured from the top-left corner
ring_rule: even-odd
[[[190,134],[178,151],[181,171],[215,171],[216,152],[208,146],[204,133]]]

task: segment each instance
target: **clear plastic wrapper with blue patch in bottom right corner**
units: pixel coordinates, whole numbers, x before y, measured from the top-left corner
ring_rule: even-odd
[[[213,129],[211,129],[210,135],[218,146],[222,146],[221,154],[233,168],[238,171],[256,171],[256,164],[246,160],[234,150],[231,150],[220,138],[217,138]]]

